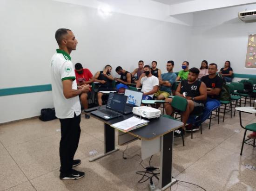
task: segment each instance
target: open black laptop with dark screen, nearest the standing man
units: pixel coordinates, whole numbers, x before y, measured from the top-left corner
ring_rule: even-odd
[[[126,101],[127,96],[110,92],[106,108],[92,111],[91,114],[104,120],[111,120],[123,115]]]

